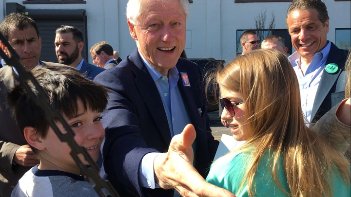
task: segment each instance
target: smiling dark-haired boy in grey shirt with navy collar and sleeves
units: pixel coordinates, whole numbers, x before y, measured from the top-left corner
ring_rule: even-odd
[[[60,67],[38,67],[32,70],[39,85],[49,95],[49,103],[62,113],[75,133],[77,144],[84,146],[98,161],[104,138],[100,122],[107,105],[107,90],[85,78],[80,72]],[[29,83],[31,89],[38,93]],[[84,181],[70,155],[71,148],[60,142],[45,119],[44,111],[19,84],[8,94],[8,105],[20,130],[40,160],[19,180],[11,197],[98,197],[93,186]],[[63,126],[57,123],[60,131]],[[82,157],[83,164],[88,164]]]

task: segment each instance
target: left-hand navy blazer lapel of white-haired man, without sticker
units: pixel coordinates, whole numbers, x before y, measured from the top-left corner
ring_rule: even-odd
[[[172,136],[168,125],[166,112],[164,110],[161,97],[159,96],[156,84],[146,69],[137,49],[129,56],[129,59],[136,67],[131,67],[132,72],[136,75],[134,82],[136,87],[149,109],[153,120],[161,132],[161,135],[167,144],[171,143]]]

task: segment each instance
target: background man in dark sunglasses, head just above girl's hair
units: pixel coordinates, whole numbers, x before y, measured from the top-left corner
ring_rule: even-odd
[[[242,54],[250,53],[256,49],[259,49],[259,43],[256,32],[248,30],[240,36],[240,43],[243,49]]]

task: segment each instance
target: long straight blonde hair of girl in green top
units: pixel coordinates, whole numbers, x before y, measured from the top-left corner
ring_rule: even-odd
[[[331,196],[330,173],[335,170],[350,184],[350,163],[305,125],[297,77],[284,54],[262,49],[241,55],[215,79],[220,87],[241,93],[245,101],[244,126],[250,137],[240,150],[250,151],[252,157],[241,189],[247,183],[254,196],[255,174],[267,151],[273,159],[267,164],[273,179],[285,191],[276,174],[282,157],[290,188],[285,192],[292,197]]]

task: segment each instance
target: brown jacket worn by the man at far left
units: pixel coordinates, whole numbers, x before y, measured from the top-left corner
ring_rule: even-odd
[[[58,63],[41,62],[41,65],[64,66]],[[0,197],[10,197],[18,180],[31,167],[20,164],[13,165],[16,150],[27,144],[15,119],[11,117],[6,107],[7,92],[15,87],[15,78],[12,67],[5,66],[0,69]]]

